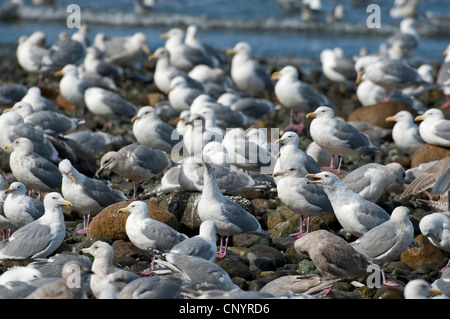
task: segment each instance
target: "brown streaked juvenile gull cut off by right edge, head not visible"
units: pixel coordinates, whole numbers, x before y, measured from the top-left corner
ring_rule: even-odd
[[[450,157],[443,158],[431,167],[427,168],[423,173],[417,176],[403,191],[400,198],[408,195],[426,192],[431,189],[436,181],[450,168]],[[427,194],[428,197],[431,197]],[[431,199],[431,198],[430,198]]]

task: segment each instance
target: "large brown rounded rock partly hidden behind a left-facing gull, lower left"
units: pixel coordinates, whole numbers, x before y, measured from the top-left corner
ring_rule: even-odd
[[[118,213],[120,208],[128,206],[130,201],[112,204],[100,211],[89,223],[87,238],[106,237],[113,240],[128,239],[125,223],[129,213]],[[147,202],[148,216],[178,230],[178,220],[167,210]]]

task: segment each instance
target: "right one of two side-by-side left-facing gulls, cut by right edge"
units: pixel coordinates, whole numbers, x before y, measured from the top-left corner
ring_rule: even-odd
[[[422,121],[419,132],[426,143],[450,147],[450,120],[445,119],[440,109],[428,109],[422,115],[416,116],[415,120]]]

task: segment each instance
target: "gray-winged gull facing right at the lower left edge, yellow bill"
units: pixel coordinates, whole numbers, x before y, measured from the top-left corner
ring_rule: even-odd
[[[61,194],[51,192],[44,197],[45,213],[41,218],[16,230],[0,242],[0,259],[46,258],[63,242],[66,235],[61,206],[70,206]]]

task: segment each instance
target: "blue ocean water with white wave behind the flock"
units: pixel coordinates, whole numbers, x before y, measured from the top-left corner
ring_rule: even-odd
[[[349,56],[359,54],[362,47],[376,52],[401,21],[389,15],[393,2],[322,0],[324,17],[321,22],[311,23],[302,21],[299,12],[284,11],[276,0],[155,0],[154,9],[145,14],[135,12],[133,0],[54,0],[51,6],[34,6],[31,0],[24,0],[18,19],[0,21],[0,46],[14,46],[21,35],[38,29],[47,34],[49,43],[62,31],[73,32],[67,26],[70,12],[66,9],[75,3],[81,9],[81,23],[89,26],[92,38],[97,32],[112,37],[141,31],[147,35],[150,49],[155,50],[164,45],[160,34],[172,26],[185,28],[196,24],[200,39],[219,50],[247,41],[255,57],[284,58],[319,67],[319,54],[326,48],[340,46]],[[343,21],[326,22],[326,14],[337,4],[345,7]],[[367,26],[369,4],[380,8],[380,28]],[[421,43],[411,59],[417,63],[439,63],[450,43],[450,28],[435,27],[421,14],[427,11],[450,14],[450,0],[422,0],[418,11]]]

